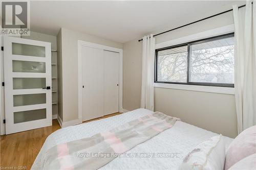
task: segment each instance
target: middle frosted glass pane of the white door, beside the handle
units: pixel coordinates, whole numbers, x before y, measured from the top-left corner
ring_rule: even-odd
[[[46,78],[13,78],[13,89],[45,88]]]

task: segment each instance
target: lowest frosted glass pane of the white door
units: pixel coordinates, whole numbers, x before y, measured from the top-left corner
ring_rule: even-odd
[[[14,124],[29,122],[32,120],[39,120],[46,118],[46,109],[36,109],[14,112]]]

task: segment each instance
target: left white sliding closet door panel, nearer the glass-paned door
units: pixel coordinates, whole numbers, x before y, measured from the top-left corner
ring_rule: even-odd
[[[103,116],[103,50],[82,46],[82,119]]]

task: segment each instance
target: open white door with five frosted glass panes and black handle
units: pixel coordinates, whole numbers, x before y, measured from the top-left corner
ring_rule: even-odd
[[[4,37],[6,134],[52,125],[51,43]]]

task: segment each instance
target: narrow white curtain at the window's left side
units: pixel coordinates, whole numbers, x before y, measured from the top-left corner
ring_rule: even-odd
[[[155,43],[153,34],[143,37],[140,107],[152,111],[154,111]]]

